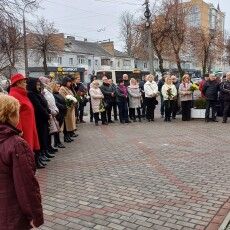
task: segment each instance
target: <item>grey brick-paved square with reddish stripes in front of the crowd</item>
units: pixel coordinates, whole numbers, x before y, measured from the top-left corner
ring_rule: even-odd
[[[217,230],[230,210],[230,123],[79,125],[38,172],[40,229]]]

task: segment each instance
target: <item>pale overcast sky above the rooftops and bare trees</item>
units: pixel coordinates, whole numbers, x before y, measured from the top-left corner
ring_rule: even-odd
[[[154,0],[150,0],[153,4]],[[226,30],[230,31],[230,0],[206,0],[226,13]],[[42,0],[37,13],[55,23],[59,32],[73,35],[78,40],[111,39],[122,49],[119,19],[123,11],[139,15],[144,0]]]

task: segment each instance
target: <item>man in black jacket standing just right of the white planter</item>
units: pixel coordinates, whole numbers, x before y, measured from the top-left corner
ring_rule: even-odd
[[[209,122],[210,108],[212,108],[212,121],[218,122],[216,120],[216,104],[218,99],[219,83],[216,80],[215,74],[209,75],[209,80],[204,84],[203,94],[207,100],[206,102],[206,112],[205,121]]]

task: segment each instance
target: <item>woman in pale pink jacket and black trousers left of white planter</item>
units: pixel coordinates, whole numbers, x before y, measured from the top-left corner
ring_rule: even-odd
[[[192,83],[188,74],[182,77],[182,83],[179,86],[179,94],[182,109],[182,121],[191,120],[192,91],[190,90]]]

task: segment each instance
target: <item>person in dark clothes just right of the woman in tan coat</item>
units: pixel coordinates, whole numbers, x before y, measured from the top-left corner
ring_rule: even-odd
[[[81,82],[81,77],[77,76],[76,77],[76,81],[75,81],[75,91],[77,93],[78,96],[80,96],[81,100],[79,101],[79,107],[78,107],[78,114],[79,114],[79,121],[80,123],[86,123],[83,120],[83,116],[84,116],[84,108],[88,102],[88,99],[86,98],[87,95],[87,89],[85,88],[85,86],[83,85],[83,83]]]

